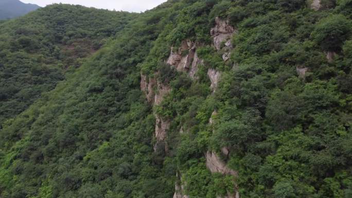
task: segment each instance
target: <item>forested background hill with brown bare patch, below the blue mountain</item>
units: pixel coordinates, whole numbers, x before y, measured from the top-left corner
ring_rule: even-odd
[[[135,16],[51,5],[0,25],[0,126],[79,67]],[[0,127],[1,128],[1,127]]]

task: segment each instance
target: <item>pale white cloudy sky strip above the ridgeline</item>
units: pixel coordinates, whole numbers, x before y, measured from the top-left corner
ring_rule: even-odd
[[[86,7],[103,8],[110,10],[124,10],[140,12],[150,10],[166,0],[20,0],[24,3],[37,4],[44,7],[53,3],[79,4]]]

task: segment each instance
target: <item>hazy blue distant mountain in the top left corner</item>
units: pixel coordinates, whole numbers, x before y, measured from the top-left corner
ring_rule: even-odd
[[[38,8],[36,4],[25,4],[19,0],[0,0],[0,20],[22,16]]]

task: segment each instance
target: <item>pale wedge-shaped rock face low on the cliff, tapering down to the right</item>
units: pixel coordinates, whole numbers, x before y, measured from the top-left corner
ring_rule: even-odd
[[[206,152],[206,167],[212,173],[238,176],[238,173],[226,166],[226,164],[213,152]]]

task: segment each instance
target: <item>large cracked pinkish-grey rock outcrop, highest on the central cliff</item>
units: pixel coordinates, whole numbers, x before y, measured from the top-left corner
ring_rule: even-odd
[[[210,35],[214,40],[214,46],[217,50],[221,49],[221,43],[226,41],[225,46],[231,46],[231,38],[235,33],[235,28],[229,25],[228,20],[223,21],[219,17],[215,18],[215,27],[210,29]]]

